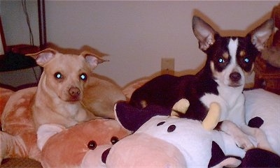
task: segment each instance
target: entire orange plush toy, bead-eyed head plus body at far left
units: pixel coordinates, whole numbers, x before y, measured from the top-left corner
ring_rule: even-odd
[[[110,145],[130,134],[117,121],[109,119],[89,121],[69,129],[44,125],[38,132],[38,146],[43,149],[42,152],[37,146],[37,134],[29,108],[35,92],[35,87],[15,94],[0,88],[1,121],[4,121],[1,123],[3,131],[0,131],[0,163],[2,158],[31,158],[44,167],[78,167],[83,162],[83,156],[94,146]],[[18,101],[7,102],[9,98]],[[89,160],[92,165],[92,157]],[[88,163],[86,157],[83,163]]]

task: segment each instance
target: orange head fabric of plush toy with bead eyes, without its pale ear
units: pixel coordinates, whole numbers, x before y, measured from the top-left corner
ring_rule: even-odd
[[[79,167],[90,151],[88,142],[94,141],[97,146],[112,144],[112,137],[122,139],[129,134],[112,119],[95,119],[74,125],[48,139],[43,146],[41,164],[43,167]],[[96,157],[101,160],[99,155]]]

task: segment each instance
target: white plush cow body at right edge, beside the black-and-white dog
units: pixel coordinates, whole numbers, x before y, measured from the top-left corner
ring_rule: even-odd
[[[259,116],[264,121],[260,128],[273,150],[280,155],[280,96],[263,89],[244,91],[244,96],[246,119]]]

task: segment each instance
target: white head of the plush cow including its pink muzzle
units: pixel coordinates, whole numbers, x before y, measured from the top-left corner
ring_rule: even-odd
[[[200,121],[154,116],[112,146],[106,167],[237,167],[244,155],[228,135]]]

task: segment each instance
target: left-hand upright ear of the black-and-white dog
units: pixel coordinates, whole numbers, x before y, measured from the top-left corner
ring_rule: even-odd
[[[193,17],[193,33],[195,34],[202,51],[206,51],[215,43],[214,36],[217,32],[200,17]]]

